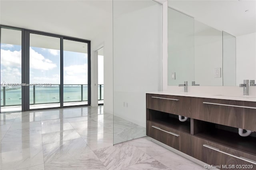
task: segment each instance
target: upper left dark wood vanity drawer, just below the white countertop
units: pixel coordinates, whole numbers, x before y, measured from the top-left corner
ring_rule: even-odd
[[[190,97],[146,94],[148,109],[190,117]]]

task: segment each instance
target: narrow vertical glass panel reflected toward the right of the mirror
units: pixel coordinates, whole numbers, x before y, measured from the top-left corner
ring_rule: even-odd
[[[222,32],[223,85],[236,86],[236,37]]]

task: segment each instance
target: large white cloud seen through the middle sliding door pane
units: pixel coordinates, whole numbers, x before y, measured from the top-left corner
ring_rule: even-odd
[[[44,56],[30,47],[30,68],[40,70],[50,70],[57,67],[51,60],[44,58]]]

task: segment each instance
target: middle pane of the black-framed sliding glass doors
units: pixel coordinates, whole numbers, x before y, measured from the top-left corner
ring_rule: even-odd
[[[30,109],[60,107],[60,38],[30,34]]]

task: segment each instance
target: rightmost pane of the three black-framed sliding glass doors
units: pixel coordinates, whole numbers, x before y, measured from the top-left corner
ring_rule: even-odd
[[[88,104],[88,44],[63,40],[64,106]]]

